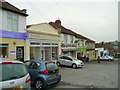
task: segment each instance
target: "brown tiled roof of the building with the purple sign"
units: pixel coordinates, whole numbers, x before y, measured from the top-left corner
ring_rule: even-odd
[[[4,10],[8,10],[14,13],[18,13],[24,16],[28,16],[28,14],[24,13],[22,10],[18,9],[17,7],[13,6],[12,4],[8,3],[7,1],[0,0],[0,7]]]

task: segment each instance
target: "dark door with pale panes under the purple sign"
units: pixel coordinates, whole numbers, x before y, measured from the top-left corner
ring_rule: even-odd
[[[20,61],[24,61],[24,47],[16,48],[16,59]]]

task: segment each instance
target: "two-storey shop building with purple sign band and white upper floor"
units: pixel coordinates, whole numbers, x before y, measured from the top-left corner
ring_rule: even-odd
[[[26,59],[26,10],[0,1],[0,57],[24,61]]]

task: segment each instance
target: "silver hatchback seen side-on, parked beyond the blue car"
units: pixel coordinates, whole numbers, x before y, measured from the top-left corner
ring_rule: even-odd
[[[84,63],[81,60],[73,58],[71,56],[60,56],[57,65],[72,66],[73,68],[83,67]]]

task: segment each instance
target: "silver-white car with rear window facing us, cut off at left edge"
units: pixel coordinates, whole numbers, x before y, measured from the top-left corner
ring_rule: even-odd
[[[30,90],[30,75],[23,62],[0,58],[0,90]]]

